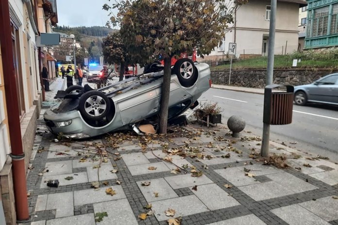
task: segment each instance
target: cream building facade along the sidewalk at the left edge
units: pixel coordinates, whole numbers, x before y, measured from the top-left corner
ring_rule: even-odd
[[[55,77],[52,49],[41,49],[40,52],[35,40],[40,32],[50,32],[51,25],[57,23],[57,13],[55,0],[2,0],[0,8],[1,32],[5,27],[9,29],[8,32],[0,34],[0,224],[15,225],[17,218],[20,219],[16,212],[16,206],[20,203],[15,201],[17,196],[14,190],[17,190],[18,185],[13,182],[17,177],[13,170],[15,163],[11,157],[17,149],[12,149],[12,144],[15,140],[20,140],[20,144],[22,142],[19,148],[24,155],[20,161],[23,161],[23,173],[26,173],[35,137],[35,132],[32,131],[36,130],[42,101],[41,66],[48,65],[50,79]],[[9,21],[9,24],[4,21]],[[11,45],[8,45],[9,40]],[[14,66],[15,85],[6,83],[6,80],[11,80],[13,76],[5,66]],[[9,91],[10,89],[14,91]],[[17,99],[6,101],[13,92],[16,93]],[[13,128],[8,124],[8,121],[13,121],[9,106],[14,104],[17,104],[15,108],[18,108],[18,112],[15,112],[19,122],[17,133],[11,132]],[[11,124],[11,127],[13,126]],[[26,181],[22,182],[26,188]]]

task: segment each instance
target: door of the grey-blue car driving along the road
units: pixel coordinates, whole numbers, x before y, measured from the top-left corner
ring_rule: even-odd
[[[338,103],[338,74],[317,80],[308,92],[310,101]]]

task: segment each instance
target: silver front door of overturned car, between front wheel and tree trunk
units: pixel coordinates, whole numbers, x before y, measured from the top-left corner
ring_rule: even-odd
[[[160,110],[157,90],[161,82],[156,80],[129,91],[129,96],[118,101],[123,125],[138,122]]]

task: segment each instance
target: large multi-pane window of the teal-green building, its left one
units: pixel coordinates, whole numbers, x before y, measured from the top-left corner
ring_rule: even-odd
[[[314,10],[312,22],[312,37],[327,34],[329,20],[329,6]]]

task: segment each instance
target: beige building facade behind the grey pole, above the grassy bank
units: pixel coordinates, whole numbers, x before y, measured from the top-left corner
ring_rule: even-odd
[[[299,8],[305,0],[277,0],[275,54],[291,53],[298,48]],[[222,44],[205,60],[221,60],[226,57],[229,43],[237,43],[237,57],[268,55],[270,1],[249,0],[234,15],[235,23],[229,24]]]

